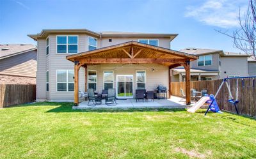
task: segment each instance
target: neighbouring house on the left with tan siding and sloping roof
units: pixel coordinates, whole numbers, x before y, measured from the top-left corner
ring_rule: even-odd
[[[0,44],[0,84],[36,84],[36,46]]]

